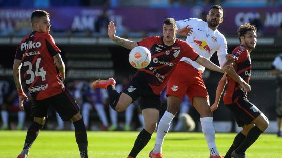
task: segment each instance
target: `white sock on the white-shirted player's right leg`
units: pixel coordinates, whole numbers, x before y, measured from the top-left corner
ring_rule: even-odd
[[[213,120],[212,117],[200,118],[202,132],[207,141],[207,144],[210,150],[210,154],[219,155],[216,145],[215,145],[215,131],[212,125],[212,120]]]

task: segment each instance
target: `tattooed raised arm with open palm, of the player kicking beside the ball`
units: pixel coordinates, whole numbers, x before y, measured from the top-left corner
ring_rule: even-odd
[[[120,38],[119,36],[115,35],[115,32],[116,32],[116,26],[114,26],[114,22],[111,21],[110,24],[108,25],[108,35],[115,43],[130,50],[138,46],[137,42]]]

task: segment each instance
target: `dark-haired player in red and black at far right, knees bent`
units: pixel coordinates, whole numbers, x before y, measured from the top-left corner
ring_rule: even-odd
[[[238,61],[227,61],[233,63],[236,73],[247,83],[251,77],[251,57],[250,53],[256,46],[256,27],[246,23],[238,28],[238,37],[241,45],[236,47],[232,54],[238,57]],[[223,101],[224,104],[235,115],[239,127],[243,130],[237,134],[230,149],[224,157],[245,157],[245,151],[258,139],[269,126],[268,118],[247,98],[247,91],[229,75],[231,69],[221,78],[217,90],[216,100],[212,105],[213,109],[218,107],[218,103],[223,93],[226,81],[227,89]],[[232,156],[231,156],[232,155]]]

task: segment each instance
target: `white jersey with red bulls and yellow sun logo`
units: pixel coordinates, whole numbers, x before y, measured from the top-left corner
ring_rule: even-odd
[[[214,31],[208,27],[208,23],[197,18],[189,18],[183,21],[176,21],[177,29],[181,29],[189,25],[193,32],[187,36],[186,42],[189,43],[196,52],[208,59],[211,58],[214,52],[217,51],[220,67],[226,62],[227,42],[223,34],[217,29]],[[205,71],[205,67],[198,64],[190,58],[183,57],[180,61],[187,61],[193,67],[199,70],[200,73]]]

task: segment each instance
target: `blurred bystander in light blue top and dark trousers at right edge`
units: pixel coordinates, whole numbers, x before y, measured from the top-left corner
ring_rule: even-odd
[[[282,130],[282,54],[279,54],[272,63],[272,75],[276,75],[276,113],[277,113],[277,136],[281,137]]]

